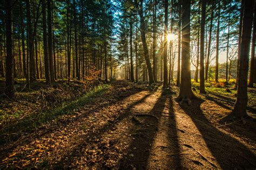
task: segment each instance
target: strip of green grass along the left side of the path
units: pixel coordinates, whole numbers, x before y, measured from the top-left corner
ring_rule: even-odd
[[[109,84],[97,86],[88,91],[85,95],[78,97],[75,101],[63,103],[60,107],[57,107],[48,112],[31,114],[23,119],[20,119],[16,124],[10,125],[9,127],[5,127],[4,129],[0,130],[0,134],[36,130],[36,128],[39,126],[48,123],[53,119],[57,119],[62,115],[73,114],[85,104],[93,102],[96,97],[102,96],[106,89],[109,87]],[[17,136],[15,138],[17,138]],[[0,144],[4,142],[6,142],[6,139],[0,139]]]

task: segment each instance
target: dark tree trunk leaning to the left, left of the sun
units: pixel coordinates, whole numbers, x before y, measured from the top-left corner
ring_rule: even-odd
[[[146,26],[145,26],[145,20],[143,16],[143,0],[140,0],[139,6],[136,4],[137,9],[139,10],[139,17],[140,17],[140,32],[142,37],[142,45],[143,45],[143,51],[144,51],[144,58],[146,60],[147,70],[149,72],[149,85],[151,86],[154,84],[154,77],[153,77],[153,71],[150,63],[150,57],[149,57],[149,49],[147,48],[147,42],[146,42]]]

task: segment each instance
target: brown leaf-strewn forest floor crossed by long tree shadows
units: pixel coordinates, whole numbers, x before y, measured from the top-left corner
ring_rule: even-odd
[[[161,92],[114,81],[49,112],[55,116],[47,121],[34,117],[30,131],[11,126],[16,138],[0,134],[9,138],[0,144],[0,169],[256,168],[255,119],[219,124],[232,104],[197,94],[200,100],[180,105],[177,95],[174,86]]]

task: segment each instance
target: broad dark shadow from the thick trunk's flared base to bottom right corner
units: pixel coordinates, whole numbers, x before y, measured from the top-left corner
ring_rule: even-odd
[[[256,156],[240,141],[229,134],[221,132],[204,116],[200,105],[204,100],[194,100],[193,104],[180,105],[185,113],[190,116],[205,140],[208,150],[212,153],[221,168],[255,168]],[[207,149],[206,148],[206,149]]]

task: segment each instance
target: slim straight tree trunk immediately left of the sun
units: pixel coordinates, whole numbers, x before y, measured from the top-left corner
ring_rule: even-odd
[[[168,34],[168,0],[164,1],[164,87],[168,87],[168,68],[167,68],[167,34]]]

